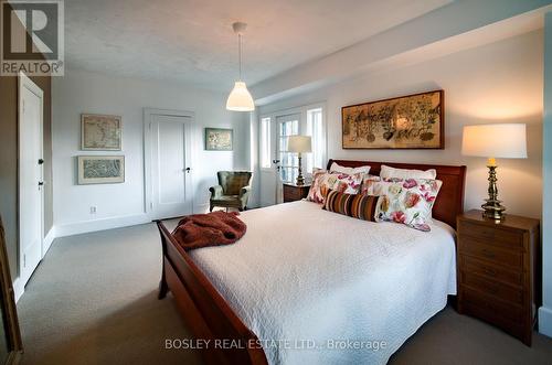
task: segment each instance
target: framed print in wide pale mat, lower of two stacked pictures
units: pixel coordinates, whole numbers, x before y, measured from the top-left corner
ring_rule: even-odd
[[[125,182],[124,155],[79,155],[78,184],[114,184]]]

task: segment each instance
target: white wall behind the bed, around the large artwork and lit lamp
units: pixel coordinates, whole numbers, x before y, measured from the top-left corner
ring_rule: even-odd
[[[328,157],[350,160],[466,164],[466,210],[487,195],[486,159],[460,153],[464,125],[528,124],[527,160],[499,160],[499,197],[508,213],[540,218],[542,206],[542,31],[421,64],[364,74],[314,93],[263,106],[259,114],[326,101]],[[341,107],[418,92],[445,90],[445,150],[343,150]]]

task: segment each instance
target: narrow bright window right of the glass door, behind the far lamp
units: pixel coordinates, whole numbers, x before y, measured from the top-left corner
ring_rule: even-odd
[[[311,137],[312,153],[307,154],[305,172],[326,168],[326,138],[322,124],[322,108],[307,110],[307,136]]]

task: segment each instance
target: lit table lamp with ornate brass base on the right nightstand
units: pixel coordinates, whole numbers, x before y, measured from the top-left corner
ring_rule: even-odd
[[[527,137],[526,125],[522,124],[496,124],[480,126],[465,126],[461,153],[465,155],[488,158],[489,168],[489,197],[485,200],[484,216],[501,221],[503,207],[498,200],[497,189],[497,161],[501,159],[526,159]]]

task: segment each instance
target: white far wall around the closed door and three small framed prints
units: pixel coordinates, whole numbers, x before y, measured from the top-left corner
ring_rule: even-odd
[[[53,99],[53,181],[54,225],[56,235],[103,229],[146,222],[144,181],[144,108],[193,111],[192,171],[194,212],[209,204],[209,186],[216,171],[250,168],[248,114],[225,110],[226,95],[199,90],[184,85],[162,84],[114,77],[81,71],[66,71],[55,77]],[[125,183],[77,185],[78,154],[112,152],[79,151],[81,114],[123,116]],[[203,128],[234,128],[234,151],[205,151]],[[91,206],[97,207],[91,214]]]

